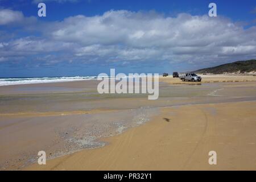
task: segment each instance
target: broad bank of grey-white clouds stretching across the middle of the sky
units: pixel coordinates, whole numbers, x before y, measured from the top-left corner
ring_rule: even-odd
[[[5,55],[58,52],[59,60],[84,63],[186,63],[251,59],[256,27],[243,28],[221,16],[164,16],[154,11],[107,11],[77,15],[40,28],[42,36],[5,42]],[[0,53],[3,48],[0,47]],[[63,56],[65,55],[65,56]],[[67,56],[68,55],[68,56]],[[54,57],[57,62],[58,57]]]

